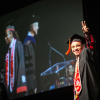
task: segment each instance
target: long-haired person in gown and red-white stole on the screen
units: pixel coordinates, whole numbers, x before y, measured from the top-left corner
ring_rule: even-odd
[[[9,99],[24,96],[27,92],[23,45],[14,26],[6,27],[6,44],[9,45],[5,59],[5,87]]]

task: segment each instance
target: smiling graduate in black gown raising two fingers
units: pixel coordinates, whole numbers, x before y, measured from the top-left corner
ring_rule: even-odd
[[[74,100],[99,100],[100,78],[96,72],[94,38],[90,34],[86,22],[82,21],[84,36],[74,34],[67,43],[76,56],[74,74]],[[84,44],[87,43],[87,47]]]

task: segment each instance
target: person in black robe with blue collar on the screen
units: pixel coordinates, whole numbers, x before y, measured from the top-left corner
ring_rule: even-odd
[[[38,22],[30,25],[30,30],[24,40],[25,71],[28,95],[37,92],[36,70],[35,70],[35,35],[38,33]]]

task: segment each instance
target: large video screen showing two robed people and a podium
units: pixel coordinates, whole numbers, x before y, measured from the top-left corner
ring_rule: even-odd
[[[66,41],[83,35],[82,0],[40,0],[0,17],[0,82],[10,99],[73,85]]]

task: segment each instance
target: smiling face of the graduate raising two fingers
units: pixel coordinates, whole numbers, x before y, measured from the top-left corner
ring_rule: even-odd
[[[74,41],[71,43],[72,52],[76,57],[78,57],[80,55],[83,48],[84,48],[84,45],[82,45],[81,42]]]

